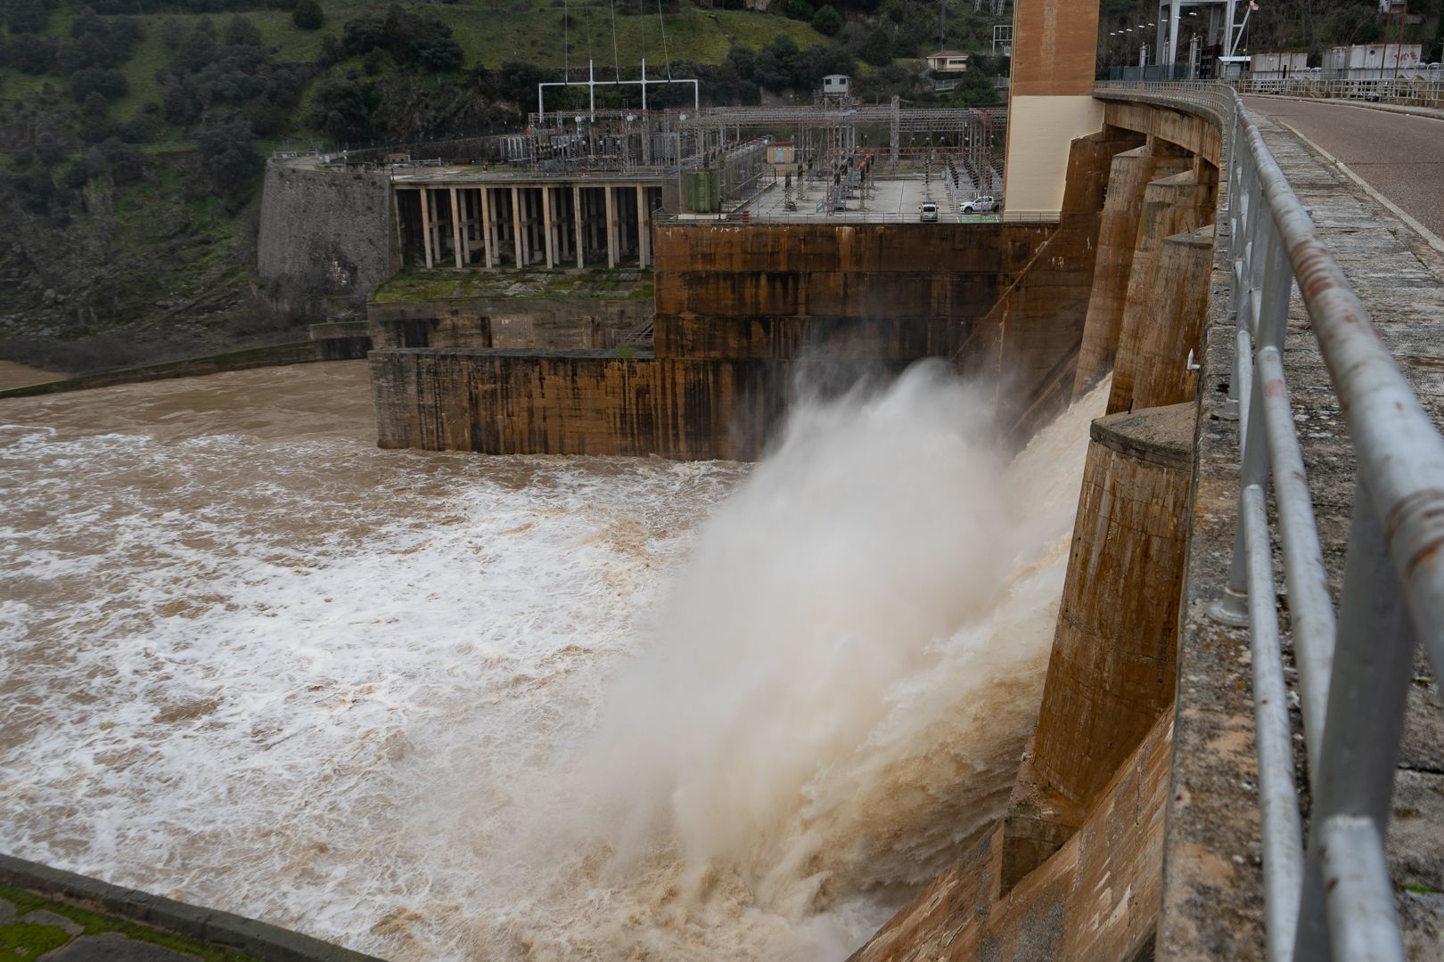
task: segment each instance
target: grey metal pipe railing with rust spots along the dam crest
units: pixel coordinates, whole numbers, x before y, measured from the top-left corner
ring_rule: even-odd
[[[1415,639],[1444,676],[1444,438],[1233,89],[1106,84],[1097,94],[1206,107],[1225,124],[1227,211],[1219,226],[1227,225],[1232,260],[1240,490],[1227,593],[1214,613],[1252,636],[1268,956],[1402,962],[1385,837]],[[1357,457],[1337,616],[1284,378],[1295,281]],[[1271,482],[1313,799],[1307,841],[1275,601]]]

